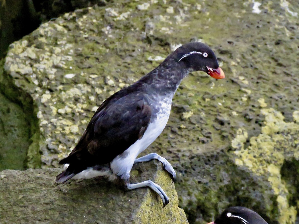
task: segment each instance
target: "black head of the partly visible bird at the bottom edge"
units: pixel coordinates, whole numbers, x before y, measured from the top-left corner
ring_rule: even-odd
[[[208,224],[268,224],[249,208],[235,206],[225,209],[219,218]]]

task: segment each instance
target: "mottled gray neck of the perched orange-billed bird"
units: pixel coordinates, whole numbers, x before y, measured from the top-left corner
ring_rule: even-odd
[[[148,91],[155,91],[159,95],[174,94],[182,79],[189,70],[174,59],[166,59],[158,67],[142,77],[138,82],[144,83]]]

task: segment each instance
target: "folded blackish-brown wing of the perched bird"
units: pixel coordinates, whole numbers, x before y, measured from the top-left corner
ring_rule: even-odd
[[[59,162],[78,164],[75,173],[88,166],[111,162],[141,139],[147,129],[152,109],[141,96],[129,94],[107,101],[91,118],[73,151]]]

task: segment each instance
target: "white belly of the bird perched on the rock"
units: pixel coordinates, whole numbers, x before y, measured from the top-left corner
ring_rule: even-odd
[[[152,142],[155,141],[165,128],[169,118],[170,108],[171,104],[164,108],[163,113],[159,113],[157,115],[154,122],[149,124],[141,139],[138,139],[126,151],[112,160],[110,167],[114,174],[118,175],[122,179],[129,179],[130,171],[138,154],[152,144]]]

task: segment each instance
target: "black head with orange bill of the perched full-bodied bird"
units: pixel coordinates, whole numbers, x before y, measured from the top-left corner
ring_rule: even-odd
[[[201,42],[190,42],[173,52],[174,60],[190,71],[204,71],[215,79],[225,78],[215,53]]]

